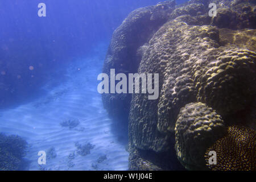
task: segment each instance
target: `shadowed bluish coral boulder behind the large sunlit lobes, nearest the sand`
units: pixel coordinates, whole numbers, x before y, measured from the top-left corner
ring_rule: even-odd
[[[104,62],[103,72],[110,76],[110,69],[118,73],[137,73],[143,46],[168,19],[174,10],[174,1],[134,10],[113,33]],[[102,94],[104,107],[110,117],[126,122],[131,94]]]

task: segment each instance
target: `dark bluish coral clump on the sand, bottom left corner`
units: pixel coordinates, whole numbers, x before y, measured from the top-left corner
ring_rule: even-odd
[[[27,142],[18,135],[0,133],[0,171],[22,170]]]

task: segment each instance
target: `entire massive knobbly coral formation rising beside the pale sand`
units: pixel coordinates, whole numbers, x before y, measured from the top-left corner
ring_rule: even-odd
[[[187,169],[205,169],[205,150],[224,136],[226,127],[255,130],[255,3],[213,2],[220,12],[216,17],[208,15],[212,1],[203,0],[135,10],[128,20],[158,10],[148,17],[162,22],[155,26],[151,18],[141,19],[147,33],[121,36],[118,32],[135,31],[134,22],[124,26],[125,20],[113,35],[106,73],[115,68],[159,74],[156,100],[137,93],[102,97],[111,115],[129,113],[130,169],[181,169],[177,159]]]

